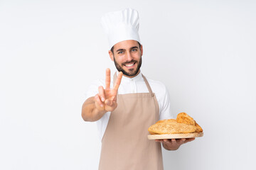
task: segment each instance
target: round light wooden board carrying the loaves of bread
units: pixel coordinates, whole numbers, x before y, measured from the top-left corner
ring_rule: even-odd
[[[163,135],[148,135],[149,140],[164,140],[164,139],[181,139],[181,138],[193,138],[202,137],[203,132],[194,133],[178,133],[178,134],[163,134]]]

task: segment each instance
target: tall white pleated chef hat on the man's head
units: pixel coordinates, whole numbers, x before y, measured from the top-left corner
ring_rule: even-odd
[[[110,49],[117,43],[124,40],[139,39],[139,13],[126,8],[123,11],[106,13],[101,18],[102,27],[107,34]]]

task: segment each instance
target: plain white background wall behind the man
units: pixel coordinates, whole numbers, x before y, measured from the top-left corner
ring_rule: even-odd
[[[0,1],[0,169],[97,169],[85,91],[114,64],[100,17],[139,11],[142,72],[204,136],[164,150],[165,169],[253,169],[255,1]]]

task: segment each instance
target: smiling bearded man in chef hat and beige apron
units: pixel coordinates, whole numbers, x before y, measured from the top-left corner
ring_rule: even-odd
[[[143,46],[138,34],[139,15],[131,8],[107,13],[102,26],[109,38],[110,58],[119,73],[111,81],[107,69],[105,84],[92,84],[82,106],[82,118],[97,121],[100,131],[99,169],[163,169],[161,143],[165,149],[176,150],[194,138],[147,139],[150,125],[173,116],[164,84],[146,79],[140,70]]]

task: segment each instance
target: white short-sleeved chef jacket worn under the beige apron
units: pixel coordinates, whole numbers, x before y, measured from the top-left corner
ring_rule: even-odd
[[[156,95],[156,99],[159,103],[159,120],[174,118],[174,115],[171,113],[170,96],[169,91],[166,89],[166,86],[162,84],[160,81],[154,81],[148,78],[146,79],[147,81],[149,81],[149,85],[151,86],[151,89],[153,93]],[[86,99],[98,94],[99,86],[103,86],[105,88],[105,80],[101,79],[93,82],[87,89],[87,92],[85,94]],[[110,88],[112,88],[112,86],[113,79],[111,77]],[[118,94],[134,93],[149,93],[148,89],[146,88],[144,79],[142,77],[142,72],[139,72],[139,74],[133,78],[128,78],[124,76],[122,77],[122,81],[118,89]],[[100,140],[102,140],[102,137],[107,128],[107,123],[110,119],[110,114],[111,112],[107,112],[105,113],[105,115],[102,116],[102,118],[100,118],[100,120],[97,120],[97,129],[99,131]]]

